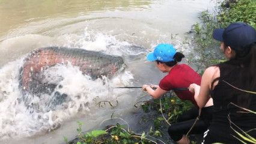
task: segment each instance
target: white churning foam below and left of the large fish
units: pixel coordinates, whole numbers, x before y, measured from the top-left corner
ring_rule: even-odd
[[[69,101],[59,104],[56,109],[46,111],[45,103],[50,95],[31,95],[31,103],[38,105],[38,109],[31,112],[23,101],[18,101],[18,98],[22,97],[22,92],[19,89],[17,63],[11,62],[0,70],[0,139],[45,133],[55,130],[62,122],[74,116],[90,115],[91,109],[97,110],[96,104],[99,101],[115,101],[122,93],[114,92],[112,86],[127,85],[133,79],[132,74],[127,71],[113,80],[106,77],[91,80],[90,76],[83,75],[78,67],[70,64],[56,65],[43,72],[48,76],[45,80],[52,83],[56,82],[55,77],[61,76],[63,79],[57,84],[62,85],[62,88],[57,88],[56,91],[67,94]]]

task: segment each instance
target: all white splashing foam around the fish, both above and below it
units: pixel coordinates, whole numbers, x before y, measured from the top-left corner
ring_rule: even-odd
[[[81,49],[112,53],[112,55],[122,55],[123,51],[120,50],[120,47],[131,45],[99,32],[90,35],[86,29],[82,35],[67,34],[53,39],[58,40],[59,38],[66,38],[67,41],[58,46],[80,47]],[[13,43],[16,43],[19,38],[13,40]],[[56,41],[52,40],[47,44],[54,46],[54,43]],[[29,46],[29,43],[27,44]],[[100,101],[115,103],[120,95],[126,94],[127,89],[117,90],[113,87],[132,85],[133,80],[133,75],[129,71],[124,71],[111,80],[106,77],[92,80],[90,76],[83,75],[78,67],[73,67],[71,64],[55,65],[42,72],[46,77],[44,82],[55,83],[57,85],[55,91],[58,91],[59,94],[66,94],[67,101],[57,104],[56,107],[49,110],[46,104],[51,103],[49,100],[52,100],[53,95],[41,94],[40,97],[29,95],[31,98],[29,106],[32,103],[34,106],[31,110],[31,107],[28,108],[28,105],[22,101],[23,95],[19,88],[19,72],[23,65],[22,61],[23,57],[18,58],[16,61],[8,62],[0,69],[0,140],[37,136],[59,128],[72,118],[85,115],[100,116],[108,110],[99,110],[97,103]]]

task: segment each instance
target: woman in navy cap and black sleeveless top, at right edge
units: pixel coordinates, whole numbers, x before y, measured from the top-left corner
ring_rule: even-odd
[[[199,107],[213,98],[215,112],[204,133],[204,143],[255,143],[256,115],[245,109],[256,112],[256,95],[248,92],[256,91],[256,31],[246,23],[236,22],[215,29],[213,38],[221,41],[228,61],[207,68],[201,87],[189,86]],[[251,136],[251,141],[238,133]]]

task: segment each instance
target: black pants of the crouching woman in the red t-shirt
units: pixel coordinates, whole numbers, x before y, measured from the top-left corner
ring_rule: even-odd
[[[203,107],[200,119],[195,123],[194,127],[189,134],[202,134],[210,125],[212,120],[213,106]],[[198,116],[198,108],[192,107],[187,112],[182,113],[178,116],[177,123],[172,124],[168,128],[169,136],[176,142],[180,140],[183,134],[186,134],[194,124]]]

